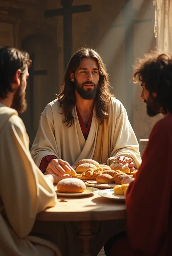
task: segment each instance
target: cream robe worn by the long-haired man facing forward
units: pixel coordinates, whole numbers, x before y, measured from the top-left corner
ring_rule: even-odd
[[[110,155],[109,159],[106,160],[107,163],[110,165],[111,157],[123,155],[131,157],[135,162],[135,168],[139,168],[141,163],[139,145],[128,121],[124,106],[118,99],[113,98],[109,111],[111,134]],[[66,127],[62,123],[65,117],[57,99],[45,107],[41,114],[37,135],[31,149],[31,155],[38,167],[42,158],[47,155],[54,155],[67,161],[72,166],[75,166],[81,159],[93,159],[99,129],[99,120],[96,117],[95,109],[86,141],[79,125],[75,107],[73,115],[76,118],[74,125]]]

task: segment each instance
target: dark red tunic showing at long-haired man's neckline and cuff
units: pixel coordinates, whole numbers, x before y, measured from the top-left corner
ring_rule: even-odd
[[[91,114],[90,114],[90,117],[89,117],[89,122],[88,122],[88,125],[87,127],[85,126],[83,120],[82,120],[82,117],[79,113],[79,110],[76,106],[76,110],[77,110],[77,115],[78,115],[78,121],[79,121],[79,125],[81,126],[81,130],[82,130],[82,133],[83,133],[83,136],[85,138],[85,140],[87,139],[88,135],[89,135],[89,131],[90,131],[90,127],[91,127],[91,122],[92,122],[92,118],[93,118],[93,109],[91,110]],[[41,163],[40,163],[40,170],[42,172],[44,172],[46,170],[46,167],[48,166],[49,162],[51,159],[53,158],[56,158],[54,155],[47,155],[46,157],[43,157],[42,160],[41,160]]]

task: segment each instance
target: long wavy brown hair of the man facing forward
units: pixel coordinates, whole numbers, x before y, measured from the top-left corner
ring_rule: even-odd
[[[83,47],[77,50],[71,57],[69,64],[67,65],[64,79],[61,83],[60,94],[57,95],[60,106],[63,108],[65,114],[65,120],[63,122],[68,127],[74,124],[72,109],[76,103],[75,89],[73,82],[70,80],[70,73],[75,73],[82,58],[92,58],[98,64],[100,78],[94,103],[96,116],[101,121],[101,124],[104,119],[109,117],[107,107],[110,105],[111,97],[113,97],[113,95],[110,93],[111,85],[105,64],[96,50]]]

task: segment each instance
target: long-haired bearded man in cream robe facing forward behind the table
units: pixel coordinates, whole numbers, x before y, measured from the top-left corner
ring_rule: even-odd
[[[41,114],[32,157],[44,172],[63,176],[84,158],[130,170],[141,163],[139,145],[122,103],[110,93],[101,56],[91,48],[73,54],[57,99]]]

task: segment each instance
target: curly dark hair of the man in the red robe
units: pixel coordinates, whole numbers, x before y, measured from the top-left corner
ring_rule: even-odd
[[[138,60],[134,70],[133,82],[144,83],[151,95],[156,93],[163,114],[172,113],[172,55],[152,50]]]

